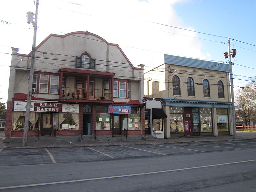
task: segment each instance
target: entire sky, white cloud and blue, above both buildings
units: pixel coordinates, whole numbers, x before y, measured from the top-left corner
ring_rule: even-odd
[[[35,12],[32,0],[1,2],[0,97],[4,102],[11,47],[24,54],[31,50],[33,30],[26,22],[28,11]],[[230,37],[236,39],[231,41],[231,49],[237,49],[232,62],[233,74],[240,75],[234,80],[238,87],[248,83],[238,79],[256,75],[255,12],[256,0],[39,0],[36,44],[51,33],[87,30],[119,44],[132,64],[153,68],[164,63],[164,53],[228,63],[223,57],[228,39],[217,36]]]

